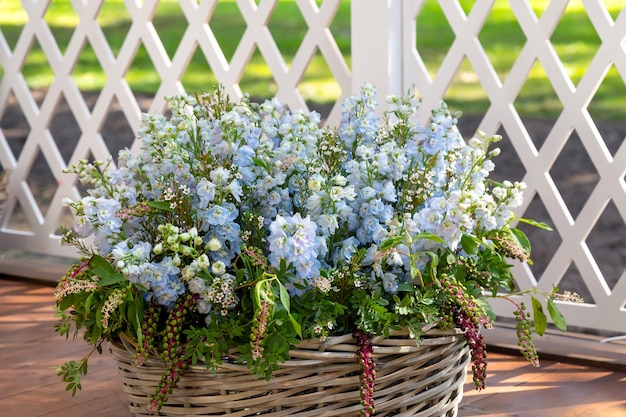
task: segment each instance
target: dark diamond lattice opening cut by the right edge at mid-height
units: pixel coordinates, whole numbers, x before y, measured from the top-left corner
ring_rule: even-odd
[[[585,240],[610,289],[626,271],[625,221],[611,200]]]

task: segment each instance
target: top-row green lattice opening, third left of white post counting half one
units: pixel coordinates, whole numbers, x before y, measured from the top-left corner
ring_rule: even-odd
[[[237,4],[218,1],[209,20],[209,26],[224,57],[230,61],[247,27]]]

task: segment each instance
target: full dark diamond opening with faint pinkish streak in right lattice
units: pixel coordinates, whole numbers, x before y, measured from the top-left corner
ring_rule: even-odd
[[[578,217],[600,180],[591,158],[576,131],[572,132],[550,175],[573,218]]]

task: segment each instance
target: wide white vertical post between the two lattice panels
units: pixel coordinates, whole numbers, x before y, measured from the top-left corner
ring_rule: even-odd
[[[353,92],[370,82],[379,96],[402,93],[402,2],[352,0],[351,18]]]

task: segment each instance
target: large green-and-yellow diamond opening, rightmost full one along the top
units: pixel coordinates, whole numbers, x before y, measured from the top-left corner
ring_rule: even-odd
[[[590,42],[590,38],[594,40]],[[589,68],[601,43],[580,1],[567,2],[550,42],[574,85]]]

